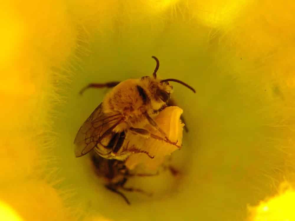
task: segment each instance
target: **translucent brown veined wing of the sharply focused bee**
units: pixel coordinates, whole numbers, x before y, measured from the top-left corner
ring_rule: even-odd
[[[80,127],[74,144],[76,157],[89,153],[100,141],[120,123],[120,114],[107,116],[102,110],[102,103],[91,113]]]

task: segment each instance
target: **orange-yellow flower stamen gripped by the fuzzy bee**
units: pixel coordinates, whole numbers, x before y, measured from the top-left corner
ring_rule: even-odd
[[[160,128],[168,135],[168,138],[176,142],[177,145],[182,144],[182,132],[184,124],[180,120],[180,116],[183,110],[177,106],[167,107],[162,110],[158,116],[154,118]],[[136,125],[135,125],[136,127]],[[150,124],[146,124],[143,128],[147,129],[151,133],[163,137],[160,132]],[[137,149],[147,151],[150,156],[154,156],[153,159],[148,157],[147,154],[139,153],[132,154],[125,162],[128,169],[135,169],[136,166],[140,166],[145,170],[156,170],[163,163],[165,156],[170,155],[178,147],[167,143],[166,141],[160,141],[154,138],[143,138],[130,133],[127,135],[127,139],[130,140],[128,149],[136,147]]]

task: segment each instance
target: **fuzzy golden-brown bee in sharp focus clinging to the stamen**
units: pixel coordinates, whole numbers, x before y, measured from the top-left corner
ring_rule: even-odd
[[[81,90],[88,88],[112,88],[102,103],[91,113],[80,127],[74,140],[76,157],[89,153],[92,149],[105,159],[124,161],[130,154],[147,151],[128,147],[128,135],[136,134],[142,138],[153,138],[181,148],[176,142],[168,139],[165,132],[153,119],[160,111],[168,106],[173,87],[169,82],[176,82],[196,92],[188,84],[173,78],[158,79],[157,71],[160,66],[158,58],[153,76],[143,76],[139,79],[128,79],[122,82],[104,84],[91,83]],[[158,134],[151,133],[142,125],[149,124]],[[159,134],[161,136],[159,136]]]

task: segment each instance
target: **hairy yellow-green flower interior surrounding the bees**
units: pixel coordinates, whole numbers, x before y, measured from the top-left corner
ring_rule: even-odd
[[[0,10],[2,216],[245,220],[247,205],[292,186],[293,1],[3,1]],[[126,193],[128,206],[88,157],[74,157],[75,134],[107,90],[78,92],[150,75],[152,55],[159,75],[197,93],[173,85],[189,128],[172,154],[179,176],[130,178],[154,195]],[[272,202],[263,208],[278,211]]]

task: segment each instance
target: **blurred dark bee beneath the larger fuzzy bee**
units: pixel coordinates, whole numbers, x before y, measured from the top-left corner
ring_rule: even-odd
[[[105,181],[105,187],[109,189],[110,191],[119,194],[127,204],[130,204],[130,201],[127,199],[127,197],[120,192],[118,189],[122,189],[129,192],[140,192],[142,194],[146,194],[148,196],[151,196],[151,194],[146,193],[142,189],[136,189],[132,187],[125,187],[125,184],[127,182],[128,177],[132,176],[155,176],[157,174],[132,174],[130,170],[126,168],[124,165],[124,162],[119,160],[109,160],[105,159],[97,154],[91,154],[91,160],[94,164],[94,168],[96,171],[96,174],[99,177],[103,177]]]

